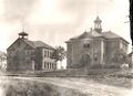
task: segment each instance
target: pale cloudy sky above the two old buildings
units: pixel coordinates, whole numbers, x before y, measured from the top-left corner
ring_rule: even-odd
[[[72,36],[93,28],[100,17],[103,31],[130,41],[129,0],[0,0],[0,50],[24,30],[29,39],[63,45]]]

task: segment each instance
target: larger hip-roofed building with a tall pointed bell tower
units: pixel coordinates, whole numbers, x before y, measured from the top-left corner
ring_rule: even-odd
[[[102,32],[102,21],[94,20],[94,29],[66,41],[68,68],[114,65],[119,67],[116,54],[127,53],[129,42],[111,32]]]

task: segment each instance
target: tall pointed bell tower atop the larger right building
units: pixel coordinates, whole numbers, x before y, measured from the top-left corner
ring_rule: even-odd
[[[98,15],[96,19],[94,20],[94,30],[99,33],[102,32],[101,23],[102,23],[102,21],[100,20],[99,15]]]

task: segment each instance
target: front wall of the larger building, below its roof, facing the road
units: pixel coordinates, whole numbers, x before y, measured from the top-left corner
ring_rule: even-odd
[[[86,44],[85,47],[84,44]],[[104,64],[104,39],[101,38],[72,40],[71,43],[68,43],[68,68],[84,66],[83,62],[89,67],[93,64]],[[96,60],[94,58],[95,54]],[[83,56],[86,55],[89,61],[83,61]]]

